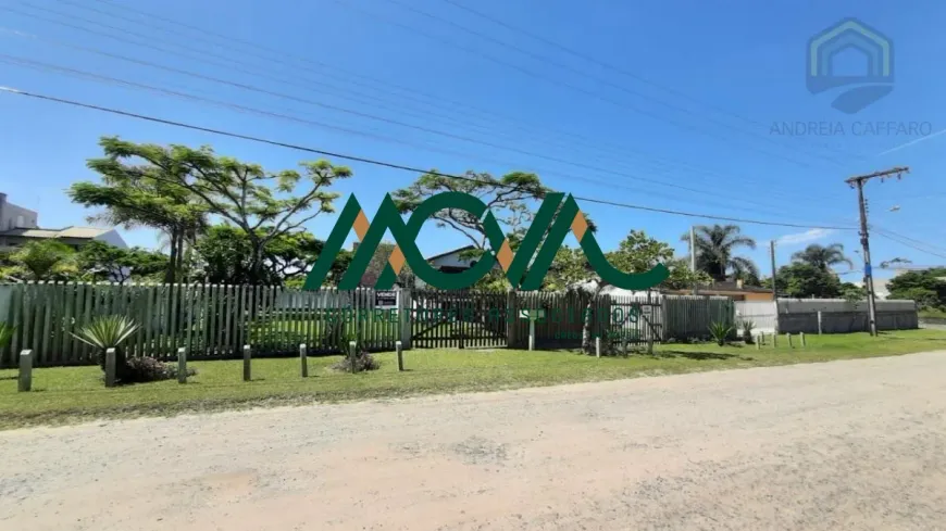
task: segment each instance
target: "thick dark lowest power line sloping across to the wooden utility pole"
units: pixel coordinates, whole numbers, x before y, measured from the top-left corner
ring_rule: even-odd
[[[435,175],[438,177],[465,180],[465,181],[470,181],[470,182],[481,182],[481,184],[484,182],[481,179],[474,179],[474,178],[466,177],[466,176],[445,174],[441,172],[432,172],[430,169],[407,166],[403,164],[384,162],[384,161],[379,161],[379,160],[368,159],[368,157],[357,156],[357,155],[335,153],[335,152],[314,149],[314,148],[307,148],[303,146],[297,146],[297,144],[291,144],[291,143],[287,143],[287,142],[281,142],[281,141],[276,141],[276,140],[270,140],[270,139],[264,139],[264,138],[260,138],[260,137],[249,136],[249,135],[242,135],[239,132],[226,131],[226,130],[222,130],[222,129],[213,129],[210,127],[197,126],[197,125],[186,124],[183,122],[171,121],[171,119],[165,119],[165,118],[159,118],[155,116],[148,116],[145,114],[133,113],[133,112],[123,111],[120,109],[105,108],[105,106],[101,106],[101,105],[95,105],[91,103],[84,103],[84,102],[79,102],[76,100],[57,98],[57,97],[52,97],[52,96],[40,94],[37,92],[28,92],[25,90],[20,90],[20,89],[15,89],[15,88],[11,88],[11,87],[0,86],[0,91],[7,92],[7,93],[12,93],[12,94],[17,94],[17,96],[24,96],[27,98],[52,101],[52,102],[72,105],[72,106],[77,106],[77,108],[90,109],[90,110],[95,110],[95,111],[100,111],[100,112],[115,114],[115,115],[120,115],[120,116],[142,119],[142,121],[158,123],[158,124],[164,124],[164,125],[171,125],[171,126],[182,127],[182,128],[191,129],[191,130],[210,132],[213,135],[220,135],[220,136],[225,136],[225,137],[229,137],[229,138],[238,138],[238,139],[242,139],[242,140],[249,140],[249,141],[265,143],[265,144],[270,144],[270,146],[288,148],[288,149],[292,149],[292,150],[297,150],[297,151],[315,153],[315,154],[331,156],[331,157],[335,157],[335,159],[343,159],[343,160],[347,160],[347,161],[361,162],[361,163],[371,164],[371,165],[375,165],[375,166],[388,167],[388,168],[393,168],[393,169],[400,169],[403,172],[410,172],[410,173],[414,173],[414,174],[418,174],[418,173],[431,174],[431,175]],[[508,185],[508,186],[506,186],[506,188],[514,188],[514,187],[511,185]],[[573,195],[573,197],[575,198],[575,200],[583,201],[586,203],[610,205],[610,206],[617,206],[617,207],[622,207],[622,208],[639,210],[639,211],[655,212],[655,213],[661,213],[661,214],[672,214],[672,215],[677,215],[677,216],[699,217],[699,218],[705,218],[705,219],[717,219],[717,220],[722,220],[722,222],[745,223],[745,224],[751,224],[751,225],[765,225],[765,226],[775,226],[775,227],[851,230],[850,227],[812,226],[812,225],[788,224],[788,223],[780,223],[780,222],[764,222],[764,220],[759,220],[759,219],[715,216],[715,215],[711,215],[711,214],[699,214],[699,213],[694,213],[694,212],[676,211],[676,210],[670,210],[670,208],[656,208],[656,207],[643,206],[643,205],[636,205],[636,204],[630,204],[630,203],[620,203],[617,201],[607,201],[607,200],[600,200],[600,199],[594,199],[594,198],[584,198],[581,195]]]

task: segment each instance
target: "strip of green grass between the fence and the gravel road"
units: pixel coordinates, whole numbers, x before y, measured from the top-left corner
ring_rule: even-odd
[[[95,418],[172,415],[241,407],[488,391],[556,383],[612,380],[796,363],[907,354],[946,349],[946,331],[809,336],[807,349],[784,337],[779,347],[714,344],[658,345],[655,355],[586,356],[564,351],[413,350],[404,352],[407,371],[397,371],[394,353],[376,354],[381,369],[347,375],[328,367],[339,356],[310,357],[309,378],[298,358],[258,359],[253,380],[244,382],[242,362],[195,362],[198,375],[176,380],[105,389],[98,367],[34,370],[33,392],[16,392],[16,370],[0,370],[0,428],[66,423]],[[770,340],[771,341],[771,340]]]

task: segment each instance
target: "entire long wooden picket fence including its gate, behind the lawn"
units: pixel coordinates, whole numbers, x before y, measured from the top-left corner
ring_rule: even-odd
[[[128,358],[175,361],[411,347],[578,347],[600,338],[609,350],[708,336],[713,321],[734,321],[725,298],[597,298],[550,292],[299,291],[209,285],[0,285],[0,318],[13,327],[0,366],[23,350],[32,364],[89,365],[98,353],[78,333],[95,318],[121,315],[139,325],[124,342]],[[531,333],[532,332],[532,333]],[[532,344],[530,337],[532,336]]]

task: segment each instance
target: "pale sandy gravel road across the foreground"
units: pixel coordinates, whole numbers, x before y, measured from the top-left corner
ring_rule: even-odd
[[[942,530],[946,352],[0,432],[0,529]]]

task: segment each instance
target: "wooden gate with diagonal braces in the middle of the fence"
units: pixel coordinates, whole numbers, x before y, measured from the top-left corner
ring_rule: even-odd
[[[505,293],[414,291],[411,346],[477,349],[506,346]]]

